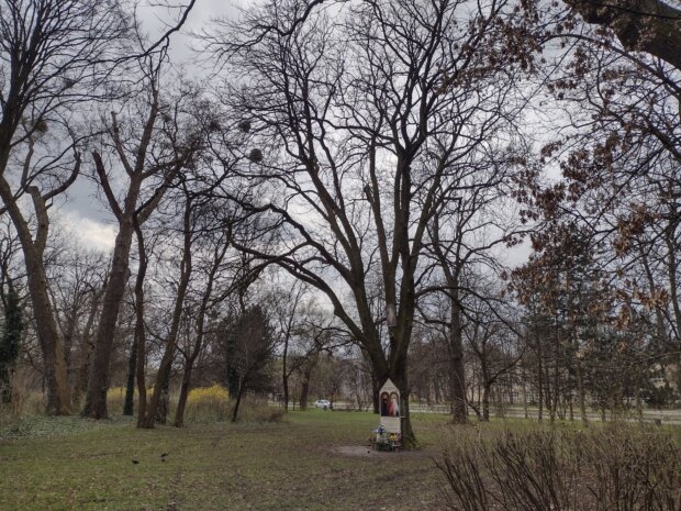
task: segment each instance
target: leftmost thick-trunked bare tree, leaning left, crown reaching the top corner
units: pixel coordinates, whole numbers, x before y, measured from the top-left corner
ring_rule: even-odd
[[[48,209],[80,171],[79,108],[102,97],[111,69],[107,58],[126,30],[115,1],[0,3],[0,211],[10,215],[21,241],[43,352],[47,411],[54,414],[69,413],[71,403],[43,264]]]

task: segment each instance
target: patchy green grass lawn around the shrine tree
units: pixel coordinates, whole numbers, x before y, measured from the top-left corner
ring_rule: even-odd
[[[42,419],[35,434],[0,441],[0,510],[444,509],[432,457],[446,416],[414,419],[423,448],[398,454],[359,448],[377,425],[371,413],[152,431]]]

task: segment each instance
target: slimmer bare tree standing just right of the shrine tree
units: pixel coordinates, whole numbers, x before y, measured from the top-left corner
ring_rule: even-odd
[[[500,152],[478,162],[466,162],[453,173],[459,190],[456,200],[442,204],[428,225],[427,255],[434,260],[432,284],[422,290],[443,292],[449,300],[449,318],[428,318],[427,307],[422,307],[425,321],[440,322],[446,326],[449,359],[449,396],[454,422],[465,422],[466,373],[464,367],[464,324],[466,299],[478,299],[475,282],[484,274],[500,275],[503,265],[495,248],[518,243],[522,235],[513,214],[514,204],[506,199],[513,180],[513,154]]]

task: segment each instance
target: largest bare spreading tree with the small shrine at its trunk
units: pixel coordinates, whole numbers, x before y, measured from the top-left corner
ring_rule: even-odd
[[[282,232],[266,249],[238,246],[326,295],[377,378],[401,389],[411,443],[406,355],[424,236],[456,192],[445,179],[453,163],[470,158],[512,116],[505,95],[515,78],[489,62],[504,45],[496,21],[505,4],[467,11],[456,1],[367,0],[330,7],[333,21],[305,7],[267,3],[227,29],[234,43],[224,34],[209,40],[247,78],[226,99],[265,149],[249,153],[244,173],[264,188],[244,205]],[[455,22],[459,15],[470,15],[470,30]],[[498,87],[501,79],[509,88]],[[375,273],[386,303],[378,318],[368,289]],[[386,318],[387,343],[378,329]]]

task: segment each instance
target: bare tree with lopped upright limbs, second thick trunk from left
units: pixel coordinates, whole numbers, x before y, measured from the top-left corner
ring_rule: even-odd
[[[180,87],[175,95],[161,96],[165,59],[165,49],[144,57],[144,64],[139,65],[139,96],[125,105],[124,119],[112,113],[107,125],[107,136],[102,142],[129,180],[122,199],[116,197],[104,158],[99,152],[93,153],[98,184],[119,223],[83,409],[83,414],[93,419],[108,414],[111,332],[116,324],[130,275],[129,259],[135,229],[148,220],[180,171],[193,165],[202,144],[201,126],[192,126],[187,119],[188,103],[194,99],[196,91]]]

